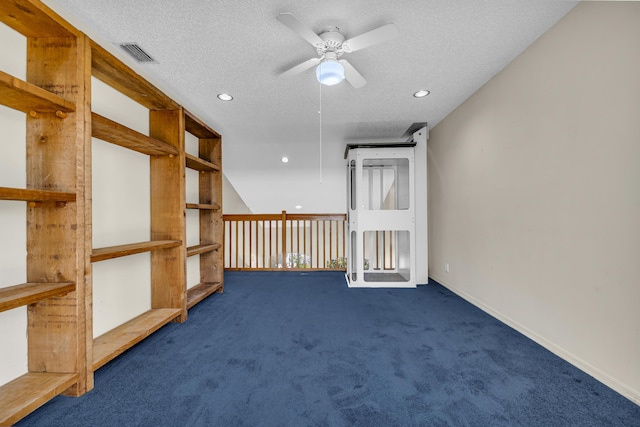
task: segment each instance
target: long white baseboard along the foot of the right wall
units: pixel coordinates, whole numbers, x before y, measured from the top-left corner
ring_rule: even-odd
[[[471,304],[475,305],[476,307],[480,308],[482,311],[490,314],[491,316],[493,316],[496,319],[500,320],[504,324],[512,327],[516,331],[518,331],[521,334],[525,335],[526,337],[532,339],[533,341],[535,341],[536,343],[540,344],[541,346],[543,346],[544,348],[546,348],[547,350],[549,350],[550,352],[552,352],[556,356],[566,360],[567,362],[571,363],[576,368],[578,368],[578,369],[584,371],[585,373],[591,375],[593,378],[595,378],[596,380],[600,381],[604,385],[612,388],[616,392],[620,393],[621,395],[623,395],[627,399],[629,399],[632,402],[634,402],[636,405],[640,405],[640,391],[634,390],[633,388],[631,388],[628,385],[620,382],[616,378],[611,377],[607,373],[605,373],[602,370],[596,368],[595,366],[591,365],[590,363],[582,360],[581,358],[577,357],[576,355],[566,351],[564,348],[558,346],[557,344],[547,340],[545,337],[543,337],[543,336],[537,334],[536,332],[530,330],[526,326],[524,326],[524,325],[516,322],[515,320],[503,315],[498,310],[495,310],[493,307],[483,303],[482,301],[476,299],[475,297],[473,297],[473,296],[467,294],[466,292],[458,289],[457,287],[455,287],[451,283],[448,283],[446,280],[444,280],[442,278],[439,278],[434,274],[430,274],[429,277],[432,278],[433,280],[435,280],[436,282],[440,283],[445,288],[449,289],[454,294],[460,296],[461,298],[465,299],[466,301],[468,301]]]

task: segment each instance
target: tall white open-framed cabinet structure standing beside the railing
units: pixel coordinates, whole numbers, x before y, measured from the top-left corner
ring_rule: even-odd
[[[426,139],[347,146],[350,287],[427,283]]]

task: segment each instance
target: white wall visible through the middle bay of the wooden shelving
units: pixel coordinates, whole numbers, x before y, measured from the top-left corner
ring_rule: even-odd
[[[149,134],[149,110],[95,78],[91,109]],[[93,138],[92,159],[93,247],[149,240],[149,156]],[[149,253],[93,264],[94,337],[150,308]]]

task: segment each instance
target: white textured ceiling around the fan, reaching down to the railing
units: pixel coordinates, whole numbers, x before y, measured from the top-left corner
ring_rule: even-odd
[[[254,213],[345,211],[345,144],[435,126],[576,2],[525,0],[45,0],[223,135],[224,172]],[[350,38],[394,23],[391,41],[346,54],[368,81],[322,87],[278,74],[315,49],[276,20]],[[136,42],[157,63],[117,44]],[[419,89],[431,94],[412,97]],[[227,92],[232,102],[216,95]],[[319,114],[319,111],[322,113]],[[283,164],[286,155],[290,162]]]

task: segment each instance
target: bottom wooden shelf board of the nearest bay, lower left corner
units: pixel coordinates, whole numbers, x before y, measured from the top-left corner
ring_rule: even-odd
[[[78,381],[77,374],[30,372],[0,387],[0,425],[13,425]]]

